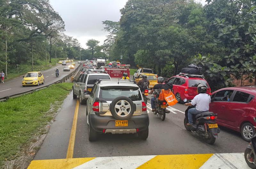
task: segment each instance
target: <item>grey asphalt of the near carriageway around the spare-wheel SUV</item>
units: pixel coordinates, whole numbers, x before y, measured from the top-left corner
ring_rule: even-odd
[[[76,99],[72,99],[70,93],[34,159],[66,158],[75,107]],[[221,128],[214,145],[205,143],[201,137],[185,129],[184,114],[181,112],[185,112],[186,107],[182,104],[176,104],[173,107],[176,110],[166,114],[164,121],[148,107],[150,122],[147,140],[140,140],[135,134],[106,134],[101,135],[98,141],[89,142],[85,108],[86,105],[79,105],[73,158],[234,153],[244,152],[248,145],[239,133],[225,128]]]

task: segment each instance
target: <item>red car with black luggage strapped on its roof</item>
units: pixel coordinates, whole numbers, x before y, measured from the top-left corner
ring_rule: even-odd
[[[204,84],[207,86],[207,93],[211,94],[211,89],[207,81],[201,75],[188,75],[180,73],[179,75],[173,76],[165,81],[165,83],[172,83],[173,94],[179,103],[183,99],[192,100],[197,94],[197,86]]]

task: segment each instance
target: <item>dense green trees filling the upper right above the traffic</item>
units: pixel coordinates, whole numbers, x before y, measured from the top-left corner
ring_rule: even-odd
[[[212,88],[231,77],[256,75],[256,9],[253,0],[129,0],[121,9],[111,52],[170,77],[190,63],[203,67]],[[111,23],[111,22],[108,22]],[[111,55],[110,55],[111,58]]]

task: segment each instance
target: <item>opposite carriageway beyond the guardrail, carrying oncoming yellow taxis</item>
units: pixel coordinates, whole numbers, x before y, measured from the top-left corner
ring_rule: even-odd
[[[67,66],[71,64],[67,63]],[[76,67],[79,64],[76,62]],[[57,82],[58,80],[60,80],[61,78],[65,77],[66,75],[68,75],[70,72],[74,71],[75,69],[70,69],[70,71],[63,71],[63,67],[61,64],[58,64],[57,66],[48,69],[48,70],[44,70],[41,71],[42,74],[44,75],[44,85],[40,85],[40,86],[26,86],[26,87],[22,87],[22,79],[23,77],[17,77],[14,78],[10,81],[7,81],[5,83],[0,84],[0,98],[6,97],[6,96],[11,96],[13,94],[18,94],[18,93],[22,93],[22,92],[27,92],[42,86],[46,86],[46,85],[50,85],[54,82]],[[59,77],[55,76],[55,70],[56,68],[58,68],[60,70],[60,74]]]

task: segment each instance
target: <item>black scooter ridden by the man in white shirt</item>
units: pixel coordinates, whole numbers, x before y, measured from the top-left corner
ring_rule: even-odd
[[[187,99],[183,100],[184,103],[188,103]],[[196,106],[188,106],[185,111],[184,126],[188,131],[196,133],[198,136],[204,138],[206,143],[213,144],[220,133],[220,128],[216,123],[217,114],[213,112],[203,112],[193,115],[193,126],[187,126],[188,123],[188,110]]]

